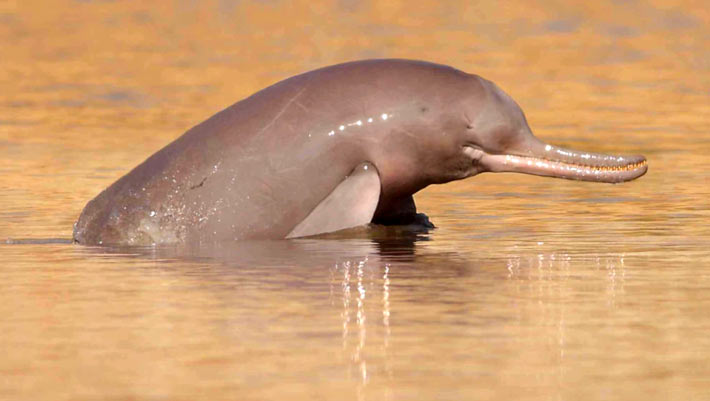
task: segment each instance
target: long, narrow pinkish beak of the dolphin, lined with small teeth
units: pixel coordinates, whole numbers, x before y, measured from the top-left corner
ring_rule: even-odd
[[[480,163],[492,172],[516,172],[569,180],[619,183],[641,177],[648,169],[643,156],[613,156],[583,153],[551,145],[544,155],[490,154]]]

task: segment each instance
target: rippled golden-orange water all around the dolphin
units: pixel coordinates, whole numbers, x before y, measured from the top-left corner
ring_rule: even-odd
[[[365,57],[476,72],[649,172],[430,187],[429,233],[0,245],[0,399],[710,398],[702,2],[148,4],[0,2],[0,238],[69,238],[191,125]]]

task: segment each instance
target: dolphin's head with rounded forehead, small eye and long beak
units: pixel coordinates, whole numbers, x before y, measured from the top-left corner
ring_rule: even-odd
[[[515,101],[494,83],[469,75],[474,94],[449,118],[456,147],[455,178],[482,172],[518,172],[572,180],[618,183],[646,173],[646,158],[564,149],[537,139]],[[453,178],[453,177],[452,177]]]

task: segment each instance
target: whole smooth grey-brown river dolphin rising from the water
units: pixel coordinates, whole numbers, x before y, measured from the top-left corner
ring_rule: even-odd
[[[643,156],[547,145],[495,84],[421,61],[298,75],[217,113],[90,201],[82,244],[299,237],[407,223],[412,194],[482,172],[622,182]]]

